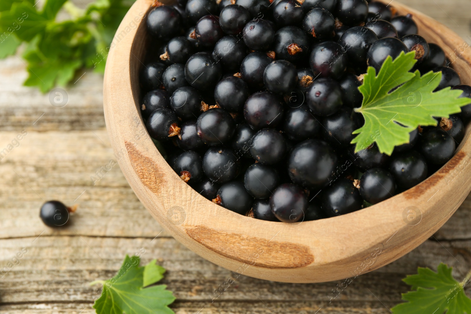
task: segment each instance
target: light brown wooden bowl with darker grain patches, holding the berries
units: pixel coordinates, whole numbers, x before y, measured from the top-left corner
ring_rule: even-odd
[[[239,274],[278,282],[352,278],[416,248],[470,192],[468,128],[453,159],[434,175],[348,215],[287,224],[238,215],[208,201],[162,158],[140,115],[138,72],[149,41],[145,15],[152,3],[138,0],[114,38],[104,83],[106,125],[122,172],[138,198],[175,239],[203,258]],[[394,7],[398,14],[412,13],[419,33],[453,56],[463,84],[471,83],[471,51],[464,40],[420,12],[398,2]]]

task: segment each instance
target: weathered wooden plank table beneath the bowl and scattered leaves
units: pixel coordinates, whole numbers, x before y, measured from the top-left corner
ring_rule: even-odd
[[[469,0],[407,4],[471,41]],[[56,108],[49,95],[21,86],[24,68],[16,56],[0,62],[0,151],[7,148],[0,157],[1,314],[94,313],[91,306],[100,290],[89,282],[112,277],[125,254],[142,249],[144,263],[157,258],[168,270],[163,282],[177,297],[172,309],[181,314],[386,314],[408,289],[400,279],[415,273],[417,266],[436,269],[445,262],[455,267],[458,279],[471,268],[470,196],[430,240],[398,261],[357,277],[331,301],[341,281],[288,284],[241,276],[212,303],[214,289],[231,272],[162,230],[117,165],[104,170],[116,158],[103,118],[102,77],[79,73],[65,88],[68,104]],[[16,142],[23,130],[27,135]],[[52,199],[79,204],[67,228],[53,230],[41,223],[39,208]],[[14,259],[22,250],[27,251],[23,257]],[[471,295],[469,287],[467,292]]]

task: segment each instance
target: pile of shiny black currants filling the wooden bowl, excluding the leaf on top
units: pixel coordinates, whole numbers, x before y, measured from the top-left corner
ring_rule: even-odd
[[[366,0],[155,5],[142,117],[181,179],[227,209],[283,222],[347,214],[419,184],[463,139],[471,105],[391,156],[350,144],[364,122],[361,74],[387,56],[414,50],[415,69],[443,72],[438,89],[471,97],[411,15]]]

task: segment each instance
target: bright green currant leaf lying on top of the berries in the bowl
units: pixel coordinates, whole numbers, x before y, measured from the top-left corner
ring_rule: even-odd
[[[388,56],[376,75],[368,67],[363,84],[363,104],[355,109],[365,118],[365,124],[353,132],[352,140],[360,151],[374,142],[381,153],[390,155],[394,146],[409,142],[409,133],[420,126],[437,125],[433,117],[448,117],[461,112],[460,107],[471,103],[470,98],[458,98],[461,90],[446,89],[433,92],[440,83],[441,72],[429,72],[422,77],[414,66],[415,52],[401,52],[394,61]],[[392,91],[391,91],[392,90]]]

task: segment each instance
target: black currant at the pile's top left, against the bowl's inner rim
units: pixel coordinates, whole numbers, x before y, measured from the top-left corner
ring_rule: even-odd
[[[171,6],[159,6],[152,9],[147,16],[147,30],[159,40],[169,40],[179,34],[182,17],[177,9]]]

